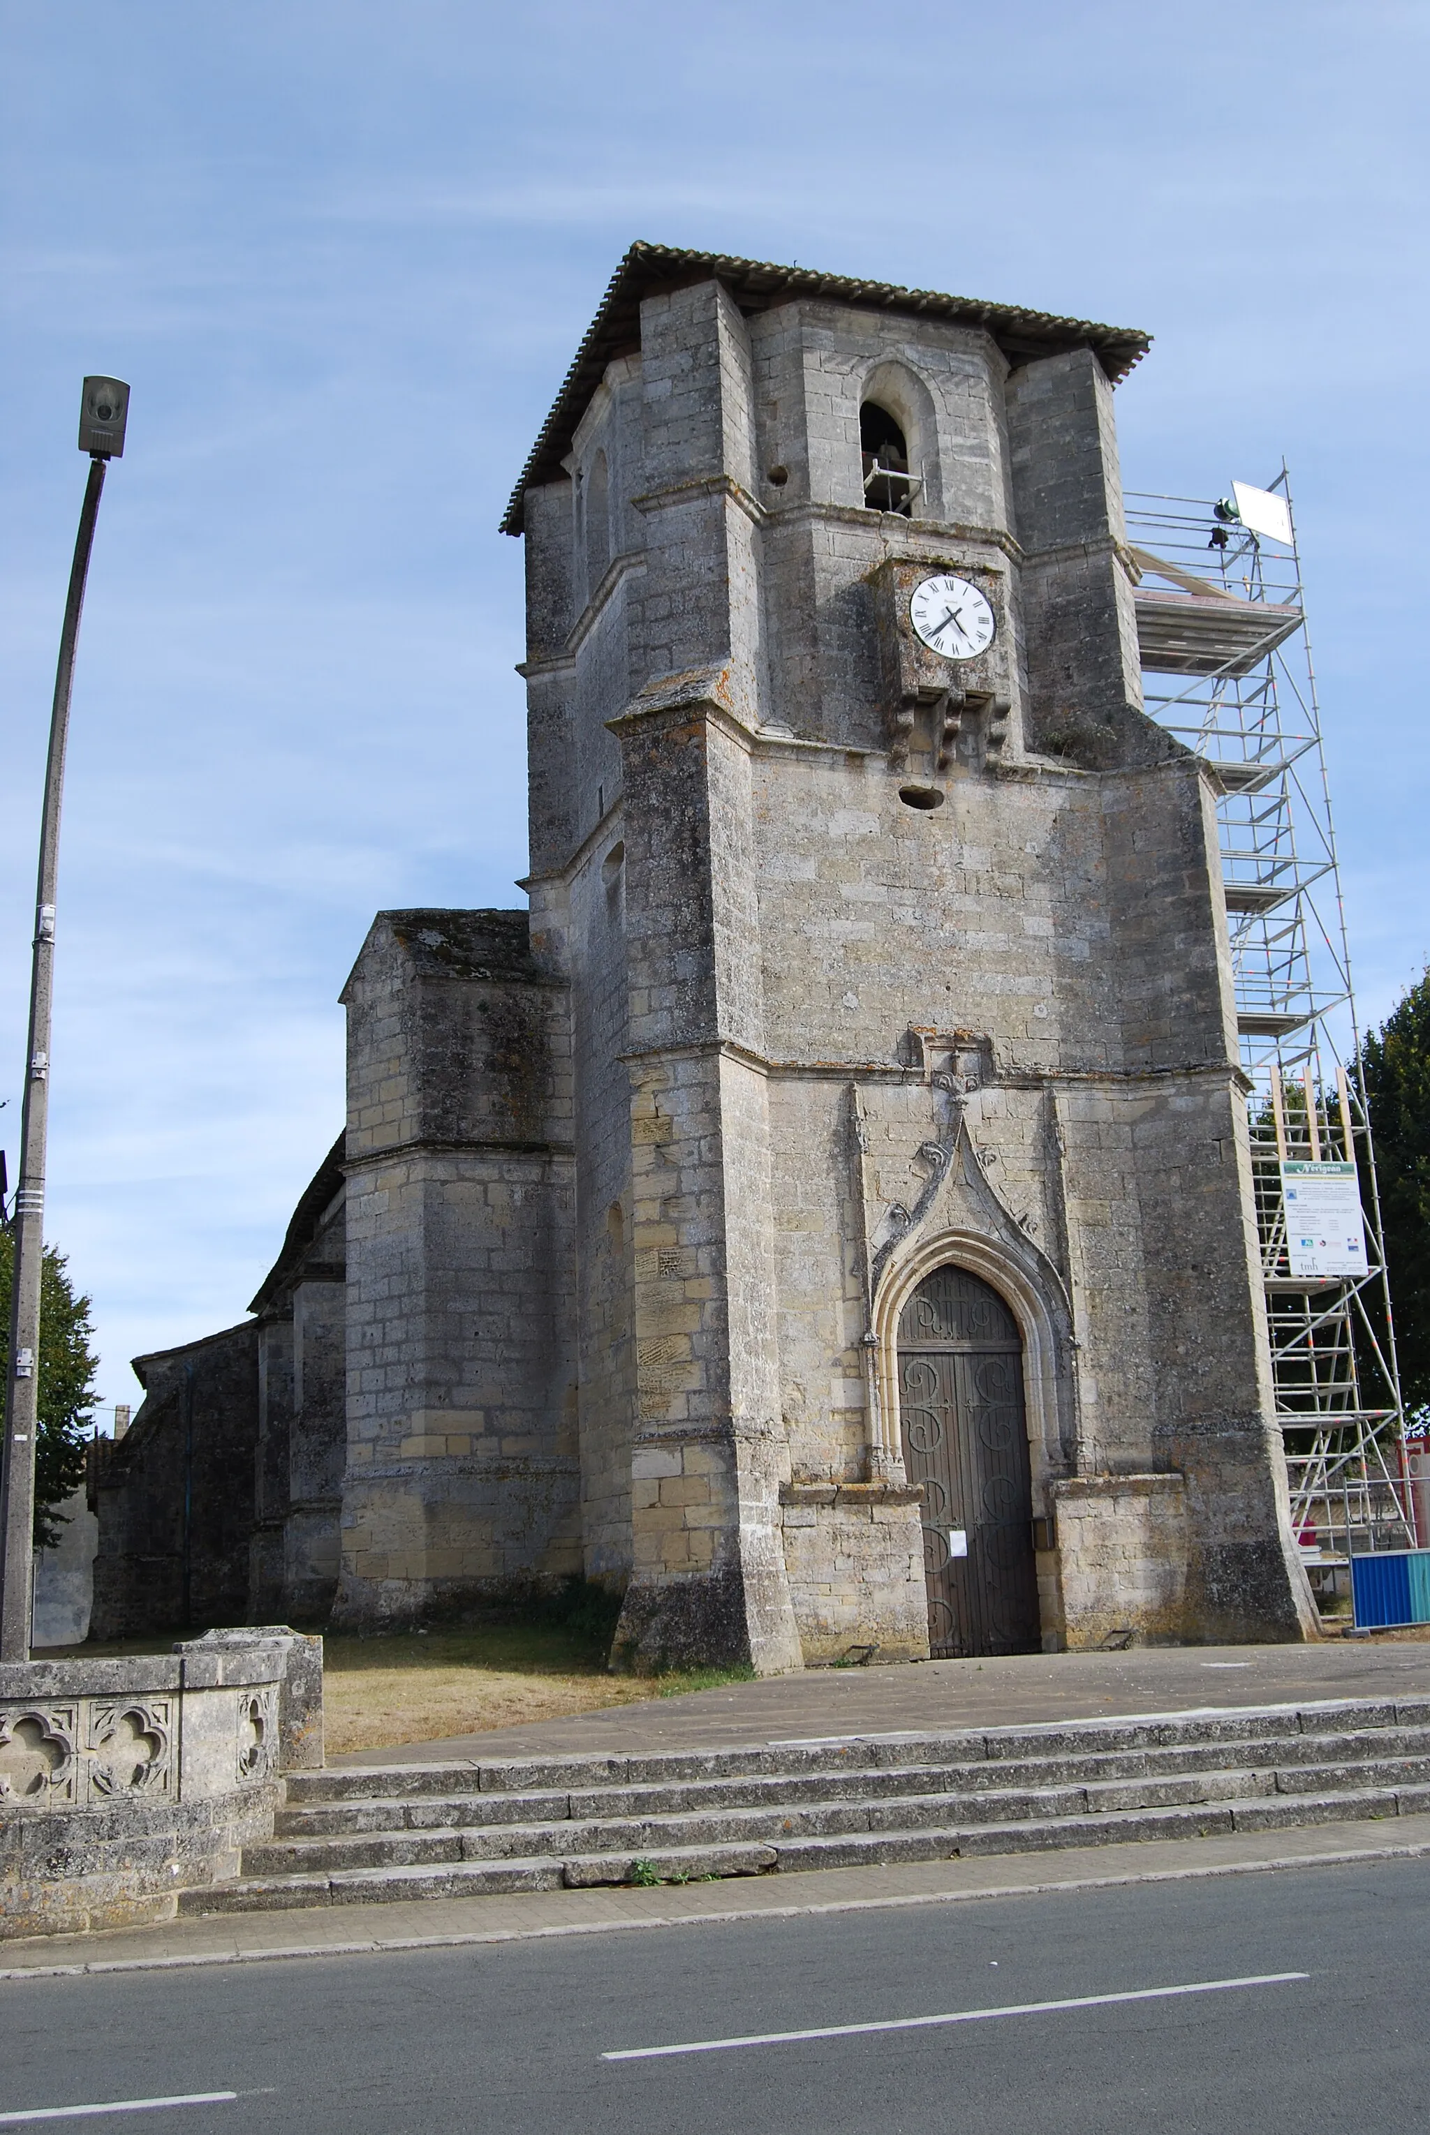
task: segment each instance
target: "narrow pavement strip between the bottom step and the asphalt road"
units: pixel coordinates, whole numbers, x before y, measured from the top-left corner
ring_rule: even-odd
[[[1430,1815],[1383,1823],[1319,1823],[1289,1832],[1154,1838],[893,1868],[825,1868],[812,1875],[735,1877],[658,1889],[562,1889],[515,1898],[430,1898],[410,1904],[344,1904],[312,1913],[242,1913],[175,1919],[103,1934],[49,1934],[0,1943],[0,1988],[77,1973],[169,1971],[278,1958],[378,1956],[511,1943],[554,1934],[718,1926],[731,1919],[795,1919],[885,1907],[955,1904],[1105,1889],[1118,1883],[1199,1881],[1293,1868],[1353,1870],[1372,1860],[1430,1855]]]

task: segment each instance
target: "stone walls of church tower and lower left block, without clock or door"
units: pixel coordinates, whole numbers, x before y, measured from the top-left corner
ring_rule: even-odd
[[[1144,348],[624,260],[507,517],[530,918],[380,914],[344,993],[333,1623],[584,1573],[633,1665],[928,1652],[966,1533],[896,1330],[953,1264],[1022,1345],[1043,1644],[1312,1631],[1214,796],[1139,700]]]

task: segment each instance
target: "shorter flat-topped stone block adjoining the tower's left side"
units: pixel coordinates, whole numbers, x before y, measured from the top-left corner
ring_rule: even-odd
[[[566,991],[524,912],[395,912],[344,1001],[333,1623],[410,1623],[581,1563]]]

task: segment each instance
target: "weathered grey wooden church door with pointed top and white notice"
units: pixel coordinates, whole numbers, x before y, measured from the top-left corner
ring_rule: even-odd
[[[934,1659],[1037,1652],[1022,1339],[990,1283],[953,1266],[923,1277],[898,1317],[898,1392]]]

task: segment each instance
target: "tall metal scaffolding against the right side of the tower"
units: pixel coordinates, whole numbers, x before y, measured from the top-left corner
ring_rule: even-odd
[[[1276,1420],[1291,1527],[1332,1608],[1353,1552],[1430,1544],[1430,1497],[1419,1448],[1406,1450],[1285,465],[1268,491],[1285,502],[1285,542],[1253,532],[1231,500],[1129,491],[1126,519],[1146,709],[1203,758],[1218,794]],[[1355,1164],[1364,1275],[1293,1272],[1287,1161]]]

